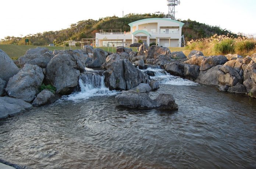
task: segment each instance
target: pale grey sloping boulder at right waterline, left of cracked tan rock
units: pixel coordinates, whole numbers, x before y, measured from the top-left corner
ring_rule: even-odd
[[[224,72],[219,70],[220,67],[221,65],[217,65],[207,71],[200,71],[200,74],[195,82],[208,85],[218,85],[218,74],[224,74]]]

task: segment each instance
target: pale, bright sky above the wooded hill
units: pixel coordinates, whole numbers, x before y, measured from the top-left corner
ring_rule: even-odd
[[[256,36],[256,0],[180,0],[176,19]],[[56,31],[80,20],[129,13],[168,13],[167,0],[1,0],[0,39]]]

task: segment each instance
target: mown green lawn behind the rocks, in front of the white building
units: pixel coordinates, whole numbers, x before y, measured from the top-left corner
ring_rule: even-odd
[[[28,45],[1,45],[0,44],[0,49],[3,50],[4,52],[7,53],[7,55],[11,58],[17,58],[20,56],[25,55],[26,50],[31,49],[31,48],[36,48],[38,46],[28,46]],[[39,46],[39,47],[44,47],[48,48],[49,50],[63,50],[63,47],[61,46]],[[108,51],[107,47],[100,47],[104,51]],[[69,47],[65,47],[65,49],[70,49]],[[81,47],[72,47],[71,49],[81,49]],[[136,47],[132,47],[133,51],[137,51]],[[183,51],[184,54],[187,56],[189,54],[189,50],[186,50],[185,48],[170,48],[171,52],[175,51]],[[112,48],[109,48],[109,52],[112,52]],[[113,48],[113,52],[115,52],[115,47]]]

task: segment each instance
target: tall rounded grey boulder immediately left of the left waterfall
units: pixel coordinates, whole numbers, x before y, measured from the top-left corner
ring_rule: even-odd
[[[56,87],[58,94],[70,94],[78,84],[79,70],[68,55],[56,55],[47,64],[46,78]]]

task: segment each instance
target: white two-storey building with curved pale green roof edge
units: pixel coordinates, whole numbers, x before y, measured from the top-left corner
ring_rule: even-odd
[[[128,24],[130,32],[96,33],[96,46],[125,46],[139,40],[163,47],[181,47],[181,29],[184,23],[169,18],[149,18]]]

